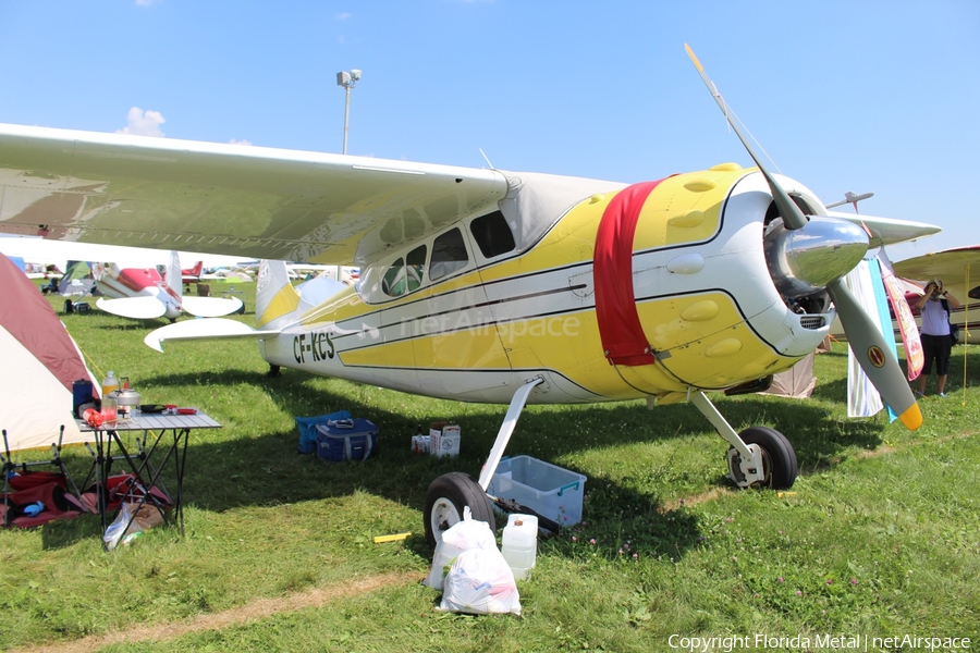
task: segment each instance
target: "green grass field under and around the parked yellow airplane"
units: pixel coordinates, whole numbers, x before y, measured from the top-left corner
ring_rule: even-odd
[[[693,406],[528,408],[507,453],[586,475],[584,522],[539,542],[534,575],[518,583],[522,617],[474,617],[437,612],[440,594],[418,582],[432,555],[421,507],[437,476],[479,472],[504,406],[292,370],[269,379],[249,344],[159,355],[142,341],[162,321],[63,320],[97,374],[112,369],[146,403],[197,406],[224,428],[192,438],[185,538],[158,528],[105,553],[94,516],[0,531],[3,650],[670,651],[672,634],[755,633],[980,641],[973,347],[956,348],[950,397],[922,402],[926,424],[915,433],[883,417],[846,418],[840,346],[817,357],[809,401],[713,397],[736,429],[770,426],[794,443],[801,473],[782,495],[730,489],[726,444]],[[377,456],[297,455],[293,418],[342,408],[381,426]],[[409,453],[416,424],[437,419],[461,424],[460,458]],[[84,476],[85,449],[66,456]],[[403,530],[414,533],[403,543],[371,542]],[[356,583],[369,589],[351,590]],[[317,592],[336,595],[304,599]],[[250,620],[194,626],[291,599],[298,603]],[[83,640],[159,624],[186,631],[130,632],[101,648]]]

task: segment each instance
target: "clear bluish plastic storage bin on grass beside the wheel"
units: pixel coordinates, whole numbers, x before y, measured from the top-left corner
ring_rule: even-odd
[[[561,526],[581,521],[585,475],[530,456],[504,458],[490,479],[488,494],[512,498]]]

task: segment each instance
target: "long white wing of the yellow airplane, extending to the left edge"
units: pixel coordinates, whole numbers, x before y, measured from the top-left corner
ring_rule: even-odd
[[[5,233],[364,264],[506,193],[492,170],[0,124]]]

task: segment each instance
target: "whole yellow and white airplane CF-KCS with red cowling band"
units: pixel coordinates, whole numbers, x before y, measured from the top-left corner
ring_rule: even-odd
[[[284,263],[266,262],[256,329],[189,320],[147,342],[253,338],[272,366],[509,403],[479,480],[430,485],[434,542],[467,506],[493,525],[486,491],[527,402],[686,399],[731,444],[739,486],[788,488],[786,438],[736,432],[706,393],[763,390],[835,316],[884,401],[920,426],[897,360],[842,276],[870,246],[939,229],[829,212],[771,174],[730,123],[755,169],[632,185],[0,125],[0,230],[360,266],[354,287],[301,295]]]

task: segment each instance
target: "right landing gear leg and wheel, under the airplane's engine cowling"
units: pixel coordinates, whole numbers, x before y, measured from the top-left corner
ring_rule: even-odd
[[[786,490],[798,473],[796,452],[786,436],[765,427],[750,427],[742,433],[722,417],[701,391],[691,392],[690,403],[732,445],[728,449],[728,478],[739,488],[760,485]]]

